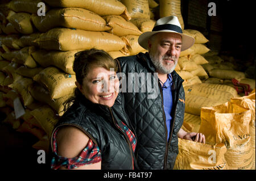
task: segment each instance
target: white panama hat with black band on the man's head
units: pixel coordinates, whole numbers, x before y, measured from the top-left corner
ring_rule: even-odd
[[[181,51],[184,51],[195,43],[192,36],[184,35],[181,30],[179,20],[176,16],[166,16],[156,21],[152,31],[144,32],[139,36],[138,42],[141,47],[148,50],[148,39],[152,35],[160,32],[174,32],[182,36]]]

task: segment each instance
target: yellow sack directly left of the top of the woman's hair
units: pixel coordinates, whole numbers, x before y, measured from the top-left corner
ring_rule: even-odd
[[[60,52],[40,49],[32,52],[31,55],[43,68],[56,66],[68,74],[75,74],[73,71],[73,62],[75,60],[75,54],[79,51],[80,50],[71,50]]]

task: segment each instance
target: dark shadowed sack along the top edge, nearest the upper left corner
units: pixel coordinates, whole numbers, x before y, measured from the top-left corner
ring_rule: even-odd
[[[15,12],[29,12],[31,14],[38,13],[38,3],[42,2],[41,0],[13,0],[8,3],[7,7]],[[49,9],[47,4],[44,4],[46,11]]]

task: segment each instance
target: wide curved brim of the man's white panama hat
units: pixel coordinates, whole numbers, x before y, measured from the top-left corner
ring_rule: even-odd
[[[195,43],[195,39],[192,36],[184,35],[183,33],[178,33],[176,31],[171,31],[171,30],[161,30],[161,31],[148,31],[148,32],[142,33],[138,39],[139,45],[141,45],[141,47],[143,47],[144,49],[148,50],[148,39],[150,39],[152,35],[155,35],[156,33],[160,33],[160,32],[172,32],[172,33],[177,33],[181,35],[182,37],[181,51],[189,49]]]

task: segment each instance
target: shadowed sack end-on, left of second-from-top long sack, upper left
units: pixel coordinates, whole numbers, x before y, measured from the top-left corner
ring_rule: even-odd
[[[13,24],[15,30],[22,34],[29,35],[34,32],[31,15],[26,12],[15,13],[11,16],[7,16],[7,19]]]

